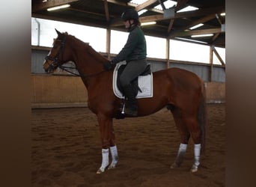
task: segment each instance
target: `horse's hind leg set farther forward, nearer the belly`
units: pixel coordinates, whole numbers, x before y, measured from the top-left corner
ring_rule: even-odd
[[[190,133],[185,123],[183,123],[180,110],[178,110],[177,108],[172,108],[171,112],[174,116],[174,121],[176,123],[177,129],[180,132],[180,147],[178,149],[175,162],[171,165],[171,168],[178,168],[183,162],[186,153],[186,147],[189,143]]]

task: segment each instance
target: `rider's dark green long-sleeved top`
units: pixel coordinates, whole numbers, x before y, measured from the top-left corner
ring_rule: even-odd
[[[127,43],[118,55],[112,60],[113,63],[120,61],[136,61],[145,59],[147,56],[147,45],[144,33],[138,26],[129,29]]]

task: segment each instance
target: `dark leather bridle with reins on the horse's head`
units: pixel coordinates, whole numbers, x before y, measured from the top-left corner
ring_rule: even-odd
[[[76,68],[76,67],[66,67],[66,66],[61,65],[61,63],[60,63],[60,60],[59,60],[60,58],[59,58],[59,56],[60,56],[60,54],[61,54],[61,59],[63,59],[63,55],[64,55],[64,52],[63,52],[63,51],[64,51],[64,46],[65,46],[66,40],[67,40],[67,35],[64,34],[64,38],[63,38],[62,40],[60,39],[60,41],[61,41],[61,46],[58,48],[58,52],[57,52],[57,54],[55,55],[55,57],[51,57],[51,56],[49,56],[49,55],[46,56],[45,60],[46,60],[46,63],[49,65],[49,70],[55,70],[57,67],[59,67],[59,68],[61,68],[61,70],[64,70],[64,71],[66,71],[66,72],[68,72],[68,73],[71,73],[71,74],[74,75],[74,76],[81,76],[81,77],[85,77],[85,78],[91,77],[91,76],[97,76],[97,75],[99,75],[100,73],[105,72],[105,70],[102,70],[102,71],[100,71],[99,73],[94,73],[94,74],[91,74],[91,75],[86,75],[86,76],[84,76],[84,75],[80,75],[80,74],[78,74],[78,73],[73,73],[73,72],[70,71],[70,70],[67,70],[67,69],[76,69],[76,70],[77,70],[77,68]],[[55,46],[53,46],[53,48],[55,48]],[[52,63],[49,64],[48,60],[52,61]]]

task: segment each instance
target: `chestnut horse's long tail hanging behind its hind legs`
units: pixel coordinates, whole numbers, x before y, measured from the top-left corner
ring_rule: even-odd
[[[205,134],[207,126],[207,104],[204,82],[201,81],[201,94],[198,106],[198,123],[201,129],[201,153],[205,153]]]

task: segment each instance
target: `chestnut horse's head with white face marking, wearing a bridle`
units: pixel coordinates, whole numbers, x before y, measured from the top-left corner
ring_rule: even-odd
[[[43,69],[46,73],[53,73],[58,67],[65,63],[64,61],[64,46],[67,38],[67,33],[61,34],[55,29],[58,37],[53,42],[52,49],[43,61]]]

